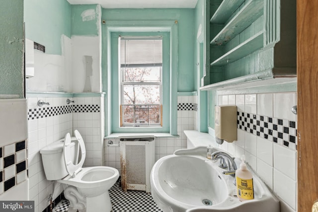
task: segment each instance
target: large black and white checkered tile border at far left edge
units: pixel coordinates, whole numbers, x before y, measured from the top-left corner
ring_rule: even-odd
[[[26,141],[0,147],[0,194],[27,179]]]

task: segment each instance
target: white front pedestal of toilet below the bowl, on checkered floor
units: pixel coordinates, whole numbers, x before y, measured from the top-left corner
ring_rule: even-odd
[[[96,197],[86,197],[86,210],[91,212],[111,212],[112,205],[108,191]]]

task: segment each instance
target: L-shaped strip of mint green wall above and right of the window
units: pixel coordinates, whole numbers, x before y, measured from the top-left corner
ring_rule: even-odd
[[[194,9],[103,9],[102,20],[177,20],[178,92],[194,87]]]

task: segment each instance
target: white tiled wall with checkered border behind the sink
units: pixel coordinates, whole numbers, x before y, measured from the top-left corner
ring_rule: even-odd
[[[236,157],[245,154],[280,198],[282,212],[297,211],[297,116],[291,111],[297,105],[296,92],[219,93],[217,99],[218,105],[238,107],[238,141],[218,147]]]

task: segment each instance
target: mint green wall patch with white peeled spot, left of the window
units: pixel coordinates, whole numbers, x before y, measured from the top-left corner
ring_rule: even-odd
[[[72,5],[72,35],[98,35],[100,5]]]

